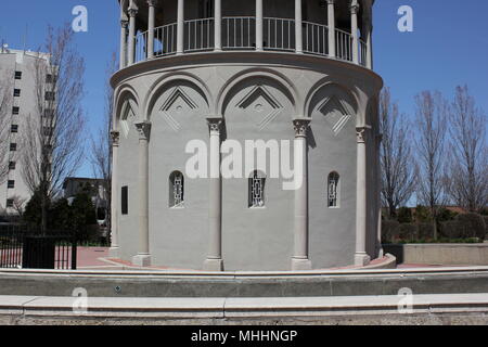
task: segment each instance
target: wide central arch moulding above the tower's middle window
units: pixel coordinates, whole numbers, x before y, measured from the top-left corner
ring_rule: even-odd
[[[223,115],[228,102],[230,99],[232,99],[232,93],[234,89],[241,85],[242,82],[253,79],[253,78],[260,78],[265,80],[269,80],[272,83],[275,83],[279,89],[283,92],[286,98],[291,101],[295,115],[297,116],[297,111],[299,110],[299,105],[297,104],[300,100],[299,92],[297,91],[295,85],[284,75],[267,68],[249,68],[243,72],[240,72],[239,74],[232,76],[228,79],[227,83],[223,85],[223,87],[220,89],[220,91],[217,94],[217,101],[216,101],[216,108],[215,113],[217,115]],[[269,93],[266,92],[266,90],[253,90],[253,92],[261,92],[265,94],[266,99],[269,99]]]

